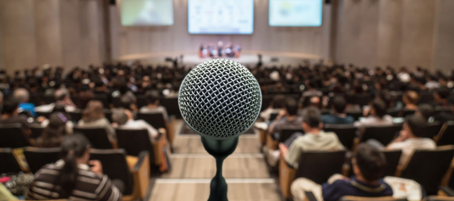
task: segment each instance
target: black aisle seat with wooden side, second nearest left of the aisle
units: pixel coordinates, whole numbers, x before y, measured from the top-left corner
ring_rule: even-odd
[[[149,152],[150,169],[161,164],[162,136],[157,142],[151,142],[148,130],[116,129],[118,147],[125,149],[128,155],[138,156],[142,151]]]

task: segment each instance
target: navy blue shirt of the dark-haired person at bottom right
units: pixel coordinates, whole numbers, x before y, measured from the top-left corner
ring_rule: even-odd
[[[339,179],[331,184],[322,185],[322,195],[325,201],[337,201],[344,195],[362,197],[392,196],[392,188],[383,179],[377,185],[370,185],[358,181],[354,176],[350,181]]]

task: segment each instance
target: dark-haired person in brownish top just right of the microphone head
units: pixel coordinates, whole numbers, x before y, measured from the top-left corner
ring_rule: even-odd
[[[301,129],[301,118],[297,116],[298,103],[293,98],[286,100],[285,109],[279,112],[276,120],[269,125],[268,133],[274,136],[274,139],[279,138],[279,133],[282,129]]]

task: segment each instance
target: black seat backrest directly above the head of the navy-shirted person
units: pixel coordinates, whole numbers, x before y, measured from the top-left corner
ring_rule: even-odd
[[[402,124],[394,124],[390,126],[368,126],[364,129],[361,142],[365,142],[369,139],[375,139],[386,146],[394,139],[401,129]]]

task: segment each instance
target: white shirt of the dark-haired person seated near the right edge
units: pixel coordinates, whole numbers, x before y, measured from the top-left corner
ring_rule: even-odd
[[[410,138],[402,142],[395,142],[389,145],[389,149],[402,150],[399,165],[405,165],[416,149],[434,150],[437,148],[435,142],[430,138]]]

